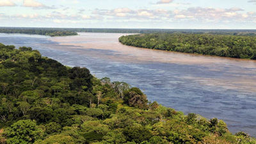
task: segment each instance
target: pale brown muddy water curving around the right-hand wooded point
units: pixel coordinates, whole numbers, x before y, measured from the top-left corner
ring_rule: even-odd
[[[77,36],[51,37],[50,40],[58,42],[61,45],[74,45],[83,49],[104,49],[116,52],[122,52],[135,56],[138,60],[159,61],[164,63],[252,63],[256,65],[255,60],[227,58],[220,56],[207,56],[202,54],[189,54],[184,52],[161,51],[157,49],[146,49],[123,45],[118,42],[118,38],[123,35],[134,35],[131,33],[78,33]],[[85,41],[85,42],[82,42]]]

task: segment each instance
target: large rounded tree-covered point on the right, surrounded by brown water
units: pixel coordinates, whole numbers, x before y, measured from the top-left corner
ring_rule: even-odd
[[[256,60],[256,36],[151,33],[121,36],[119,42],[134,47]]]

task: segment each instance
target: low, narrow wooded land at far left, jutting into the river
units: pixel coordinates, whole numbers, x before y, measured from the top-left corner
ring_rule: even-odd
[[[24,33],[29,35],[46,35],[46,36],[77,35],[75,31],[65,31],[65,30],[57,30],[57,29],[38,29],[38,28],[0,28],[0,33]]]

